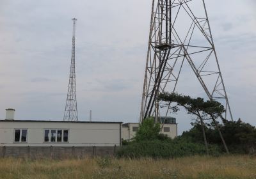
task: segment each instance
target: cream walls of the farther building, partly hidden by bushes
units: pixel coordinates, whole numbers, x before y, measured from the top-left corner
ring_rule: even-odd
[[[136,131],[132,130],[133,127],[139,127],[139,123],[128,123],[128,127],[122,127],[122,139],[131,140],[135,136]],[[170,127],[170,132],[164,132],[164,127]],[[174,139],[177,137],[177,124],[164,124],[161,133]]]

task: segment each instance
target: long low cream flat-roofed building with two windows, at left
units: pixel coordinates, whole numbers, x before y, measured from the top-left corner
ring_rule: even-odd
[[[121,124],[0,120],[0,146],[120,146]]]

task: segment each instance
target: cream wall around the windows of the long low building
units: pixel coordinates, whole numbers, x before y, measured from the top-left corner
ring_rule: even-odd
[[[14,143],[15,128],[28,128],[27,143]],[[44,129],[68,129],[68,143],[44,143]],[[120,123],[1,121],[0,146],[120,146]]]

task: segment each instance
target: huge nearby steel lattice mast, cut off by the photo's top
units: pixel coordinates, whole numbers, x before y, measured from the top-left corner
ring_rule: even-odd
[[[153,0],[140,122],[168,115],[170,104],[157,102],[157,95],[176,91],[185,61],[207,97],[221,102],[227,109],[225,117],[233,119],[205,1]]]

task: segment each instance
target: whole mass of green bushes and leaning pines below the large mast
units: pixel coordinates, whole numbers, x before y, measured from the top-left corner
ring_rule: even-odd
[[[131,141],[123,141],[118,157],[173,159],[194,155],[218,156],[223,153],[256,154],[256,128],[240,119],[225,120],[225,108],[220,102],[205,102],[204,98],[191,98],[177,93],[161,93],[159,100],[172,104],[172,113],[177,113],[183,107],[188,114],[196,117],[191,122],[193,128],[170,139],[161,134],[160,123],[156,123],[154,118],[145,118],[136,136]]]

